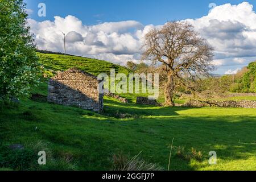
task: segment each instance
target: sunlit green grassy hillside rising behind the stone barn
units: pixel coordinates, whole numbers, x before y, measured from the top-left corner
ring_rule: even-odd
[[[65,71],[72,67],[76,67],[95,76],[100,73],[107,73],[109,75],[110,69],[115,69],[115,72],[125,73],[125,75],[133,72],[121,65],[88,57],[67,55],[65,59],[63,53],[39,50],[37,55],[39,57],[39,63],[44,66],[45,73],[48,76],[53,76],[56,71]]]

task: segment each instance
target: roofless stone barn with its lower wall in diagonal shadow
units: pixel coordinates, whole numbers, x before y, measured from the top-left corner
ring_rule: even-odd
[[[48,102],[101,113],[104,94],[99,93],[99,83],[96,76],[76,68],[58,72],[48,82]]]

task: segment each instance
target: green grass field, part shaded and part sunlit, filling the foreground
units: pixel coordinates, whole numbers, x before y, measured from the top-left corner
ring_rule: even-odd
[[[57,56],[42,54],[40,61],[49,70],[76,65],[76,57],[70,65]],[[82,67],[94,74],[98,70]],[[33,93],[47,96],[46,82]],[[44,99],[0,102],[0,170],[108,170],[113,155],[139,152],[140,158],[166,170],[173,138],[171,170],[256,170],[256,109],[142,106],[134,104],[137,95],[123,96],[133,102],[105,97],[104,114]],[[10,150],[11,144],[22,144],[24,150]],[[201,152],[200,159],[186,157],[191,148]],[[37,164],[41,150],[47,153],[45,166]],[[208,164],[210,151],[217,152],[216,165]]]

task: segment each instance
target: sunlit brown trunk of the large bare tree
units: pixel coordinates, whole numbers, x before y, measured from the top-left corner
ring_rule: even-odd
[[[167,74],[168,79],[166,82],[166,88],[164,90],[164,95],[165,95],[165,103],[164,105],[166,106],[174,106],[174,75],[172,72],[169,72]]]

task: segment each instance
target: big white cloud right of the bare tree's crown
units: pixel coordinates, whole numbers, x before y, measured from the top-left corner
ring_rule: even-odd
[[[216,63],[224,62],[218,65],[247,64],[256,56],[256,14],[248,2],[217,6],[207,16],[187,21],[214,47]]]

